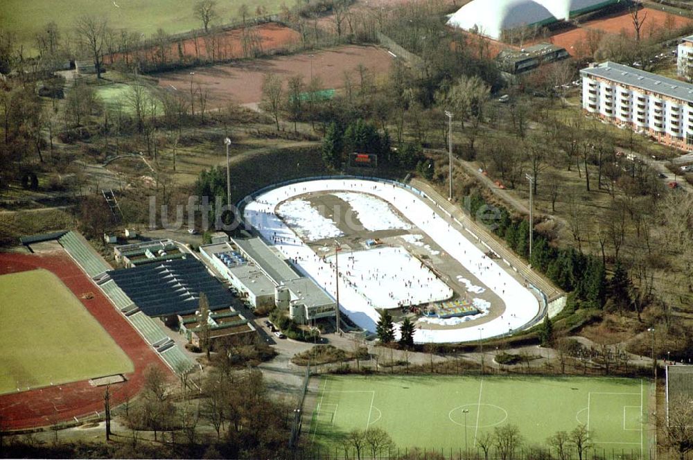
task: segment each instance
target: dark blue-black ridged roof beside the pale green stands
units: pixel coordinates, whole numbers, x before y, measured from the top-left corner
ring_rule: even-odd
[[[195,312],[200,292],[207,294],[210,310],[231,305],[231,294],[197,259],[166,260],[108,274],[150,317]]]

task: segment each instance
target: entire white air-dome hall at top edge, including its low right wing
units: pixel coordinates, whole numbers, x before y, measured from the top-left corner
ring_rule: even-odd
[[[502,30],[543,26],[598,10],[620,0],[472,0],[455,12],[448,25],[499,39]]]

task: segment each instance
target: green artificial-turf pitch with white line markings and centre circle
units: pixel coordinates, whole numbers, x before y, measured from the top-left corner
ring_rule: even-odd
[[[599,451],[648,455],[648,382],[613,378],[324,376],[306,441],[335,450],[341,434],[380,427],[398,448],[476,450],[475,439],[514,424],[527,445],[587,425]],[[310,410],[310,407],[306,407]],[[466,414],[464,410],[466,409]],[[337,449],[338,451],[339,449]]]

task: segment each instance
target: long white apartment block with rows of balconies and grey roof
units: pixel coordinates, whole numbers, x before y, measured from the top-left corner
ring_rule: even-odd
[[[589,114],[693,150],[693,85],[608,61],[580,76],[582,108]]]

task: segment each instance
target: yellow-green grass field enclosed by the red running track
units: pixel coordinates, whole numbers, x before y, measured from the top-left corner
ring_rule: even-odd
[[[134,370],[128,356],[51,272],[0,276],[0,292],[0,394]]]

